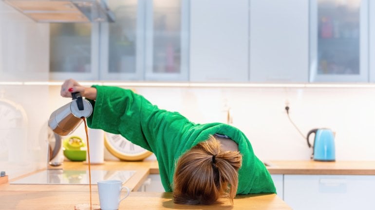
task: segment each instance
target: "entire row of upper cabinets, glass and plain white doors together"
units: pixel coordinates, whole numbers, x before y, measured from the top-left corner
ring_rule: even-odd
[[[370,0],[108,0],[114,23],[50,24],[50,79],[375,81]]]

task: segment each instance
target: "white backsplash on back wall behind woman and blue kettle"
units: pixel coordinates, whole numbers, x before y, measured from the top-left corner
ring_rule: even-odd
[[[226,123],[231,108],[233,126],[241,129],[262,160],[309,160],[312,149],[289,122],[304,135],[310,129],[336,132],[338,161],[375,161],[374,88],[178,88],[137,87],[161,109],[176,111],[195,123]],[[69,102],[50,87],[50,112]],[[76,135],[84,137],[83,128]],[[151,157],[150,159],[154,159]]]

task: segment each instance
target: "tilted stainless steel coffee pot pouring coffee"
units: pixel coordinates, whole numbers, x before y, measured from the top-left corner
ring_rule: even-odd
[[[91,103],[82,98],[80,93],[72,93],[72,101],[51,114],[48,126],[58,135],[66,136],[82,123],[81,117],[89,117],[91,113]]]

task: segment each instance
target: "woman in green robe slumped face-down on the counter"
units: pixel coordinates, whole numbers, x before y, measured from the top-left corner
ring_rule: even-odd
[[[164,189],[173,192],[175,203],[212,204],[224,196],[233,203],[236,194],[276,193],[270,174],[239,129],[192,123],[119,87],[83,87],[70,79],[60,94],[71,97],[72,92],[90,99],[90,128],[121,134],[155,154]]]

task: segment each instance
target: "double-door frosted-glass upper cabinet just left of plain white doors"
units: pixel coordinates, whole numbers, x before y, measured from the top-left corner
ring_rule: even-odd
[[[100,26],[100,79],[187,80],[187,2],[108,0],[116,20]]]

